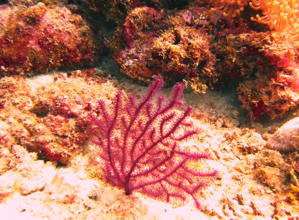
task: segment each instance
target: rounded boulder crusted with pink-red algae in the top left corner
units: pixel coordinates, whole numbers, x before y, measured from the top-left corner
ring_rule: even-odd
[[[0,75],[30,75],[95,61],[92,31],[66,7],[6,4],[0,11]]]

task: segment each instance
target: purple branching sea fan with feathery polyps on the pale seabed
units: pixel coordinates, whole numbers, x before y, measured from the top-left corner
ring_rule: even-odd
[[[131,94],[125,105],[118,92],[111,110],[99,100],[98,116],[89,115],[94,125],[89,132],[100,147],[107,179],[124,188],[126,195],[139,191],[167,202],[170,198],[185,201],[191,196],[200,208],[196,194],[206,185],[206,179],[217,177],[218,171],[194,168],[197,162],[210,159],[210,153],[180,147],[199,129],[187,119],[192,106],[181,113],[176,111],[184,106],[184,85],[177,83],[164,102],[164,96],[158,94],[163,84],[162,77],[157,77],[139,102]]]

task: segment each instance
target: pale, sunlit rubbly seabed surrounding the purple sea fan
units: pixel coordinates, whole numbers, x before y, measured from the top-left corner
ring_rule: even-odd
[[[38,115],[36,109],[32,111],[37,100],[51,103],[52,96],[64,95],[70,106],[80,107],[75,101],[82,98],[83,109],[84,102],[94,104],[97,99],[111,100],[120,89],[142,96],[145,86],[127,78],[86,77],[83,72],[74,71],[72,77],[68,77],[67,73],[29,78],[5,77],[1,79],[1,89],[1,97],[5,99],[0,110],[1,219],[299,217],[298,193],[291,188],[296,177],[290,174],[290,170],[297,165],[298,154],[265,148],[266,140],[275,129],[296,117],[298,110],[282,119],[252,122],[240,109],[237,95],[233,92],[194,94],[187,88],[184,98],[188,105],[194,106],[191,120],[201,132],[182,147],[195,146],[209,151],[213,160],[203,162],[202,167],[219,171],[219,177],[199,192],[202,210],[198,210],[192,200],[177,205],[137,192],[126,196],[122,189],[106,183],[103,174],[97,171],[101,162],[94,153],[96,146],[89,141],[82,146],[78,144],[80,149],[72,151],[63,163],[42,158],[38,148],[33,146],[32,139],[39,134],[30,133],[29,127],[41,126],[42,130],[47,125],[44,121],[50,120],[48,115]],[[167,95],[170,90],[163,88],[161,92]],[[49,104],[48,108],[52,107]],[[82,112],[78,112],[75,118],[77,116],[86,117]],[[36,124],[33,120],[37,121]],[[60,124],[59,128],[68,126],[68,123],[70,121]],[[63,133],[62,137],[69,135],[68,130],[59,132]],[[44,132],[43,135],[48,134]],[[54,142],[56,140],[60,139],[52,139]],[[76,146],[72,145],[74,148]]]

